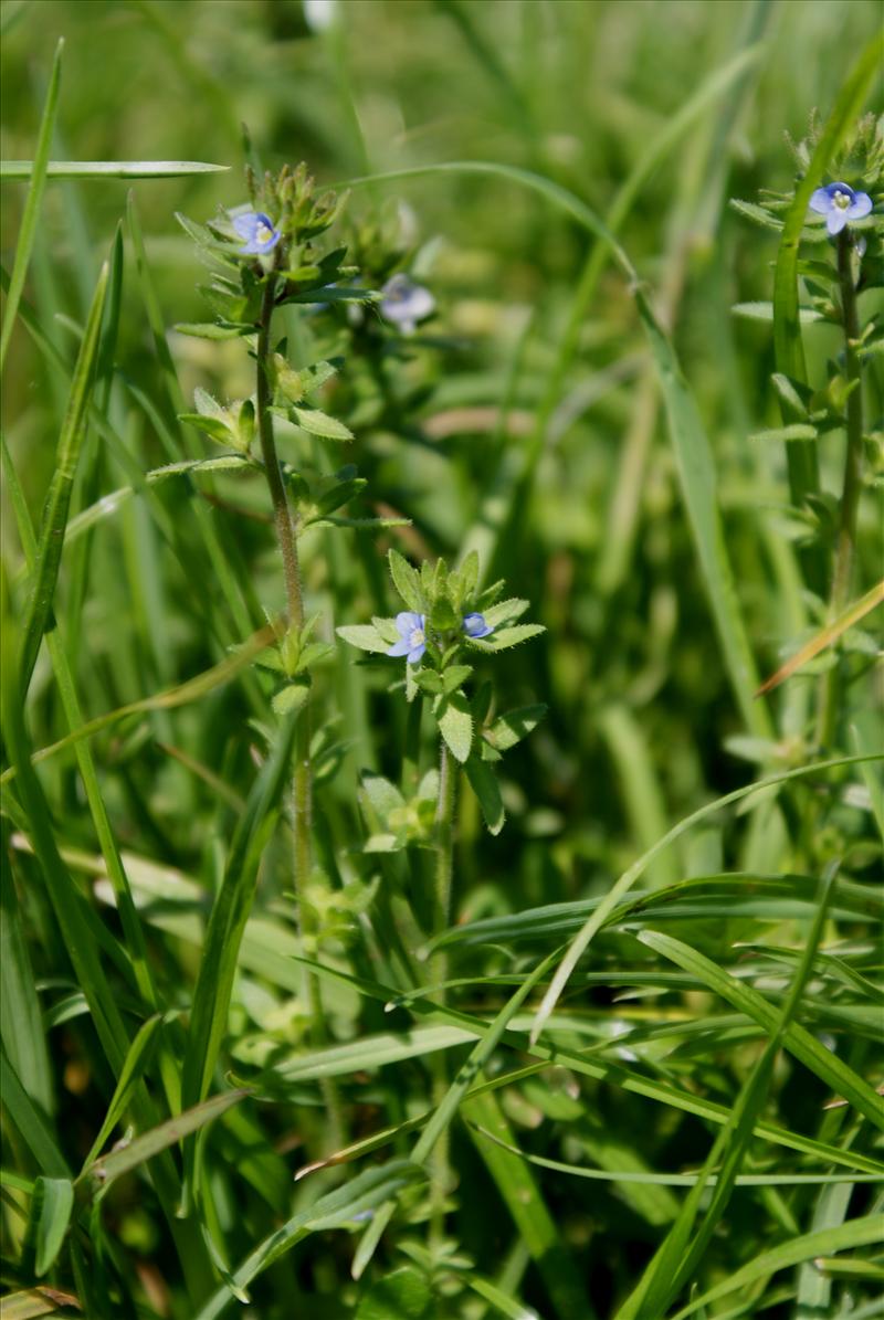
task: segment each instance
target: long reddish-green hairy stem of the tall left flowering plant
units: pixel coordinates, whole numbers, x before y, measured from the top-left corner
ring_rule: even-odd
[[[270,498],[274,506],[274,525],[276,540],[283,558],[283,573],[285,577],[285,601],[288,605],[288,627],[300,632],[304,627],[304,594],[301,590],[301,569],[297,557],[297,535],[295,520],[288,504],[283,470],[276,454],[276,441],[274,440],[274,418],[270,411],[270,354],[271,354],[271,327],[274,321],[274,308],[276,304],[276,275],[271,273],[264,285],[264,297],[260,309],[260,325],[258,330],[258,434],[260,437],[260,451],[264,459],[264,474],[270,488]],[[311,957],[316,949],[316,920],[309,903],[308,888],[313,871],[312,846],[312,818],[313,818],[313,774],[311,768],[311,709],[309,702],[301,708],[295,733],[295,771],[292,776],[292,829],[295,834],[295,894],[297,898],[299,928],[301,948],[305,957]],[[325,1012],[322,1010],[322,997],[320,983],[312,972],[305,974],[305,998],[311,1014],[312,1039],[316,1045],[325,1044],[328,1032],[325,1028]],[[328,1114],[328,1127],[322,1146],[336,1150],[344,1143],[344,1117],[341,1098],[336,1082],[324,1078],[320,1090]],[[324,1151],[326,1154],[326,1151]]]

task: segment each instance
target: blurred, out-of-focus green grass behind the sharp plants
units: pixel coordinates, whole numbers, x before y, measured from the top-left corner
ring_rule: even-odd
[[[311,28],[299,0],[7,0],[3,25],[4,158],[33,154],[53,51],[63,36],[55,158],[178,158],[231,166],[229,174],[133,185],[166,327],[205,317],[196,292],[202,272],[173,213],[202,220],[219,205],[244,199],[243,121],[268,168],[305,160],[324,183],[427,164],[494,161],[542,173],[605,215],[649,144],[703,81],[760,41],[757,63],[710,102],[644,183],[621,236],[658,314],[673,329],[712,442],[728,550],[761,673],[774,669],[781,647],[810,626],[813,603],[799,589],[789,540],[784,455],[748,440],[751,432],[777,424],[770,326],[737,321],[729,312],[733,302],[770,297],[776,236],[749,228],[728,211],[727,199],[755,199],[758,189],[792,186],[794,160],[784,135],[799,139],[814,108],[825,114],[831,107],[856,51],[880,25],[877,0],[349,0],[325,30]],[[85,321],[99,265],[126,213],[128,187],[123,181],[48,185],[26,296],[65,356],[71,355],[75,327]],[[481,833],[474,804],[464,797],[457,906],[474,916],[603,894],[677,820],[755,774],[725,750],[727,739],[747,730],[720,659],[646,342],[622,276],[607,267],[568,359],[562,345],[588,242],[536,195],[499,178],[436,174],[357,189],[349,214],[354,223],[373,218],[396,198],[411,209],[420,271],[439,302],[428,331],[439,343],[420,350],[408,368],[432,392],[410,418],[416,438],[367,428],[358,434],[353,461],[371,473],[378,499],[415,520],[418,544],[449,557],[466,537],[478,537],[486,553],[494,548],[494,541],[482,540],[484,502],[506,475],[510,453],[527,463],[531,479],[522,503],[510,506],[518,517],[497,541],[494,564],[517,594],[531,597],[531,616],[548,628],[540,644],[498,661],[503,704],[544,700],[550,713],[507,760],[511,820],[499,838]],[[4,185],[7,269],[22,199],[21,185]],[[118,408],[115,425],[137,467],[147,470],[169,458],[160,430],[173,409],[128,251],[124,288],[118,368],[155,400],[160,422],[129,400]],[[251,388],[240,346],[180,337],[172,343],[186,396],[194,385],[219,396]],[[835,331],[813,327],[807,350],[811,379],[822,383],[826,358],[836,351]],[[550,399],[558,372],[559,388]],[[880,411],[880,385],[871,388]],[[63,389],[20,331],[3,411],[34,516],[52,473],[62,404]],[[542,446],[531,467],[538,417],[544,421]],[[843,463],[838,438],[827,442],[821,461],[825,484],[835,491]],[[114,458],[102,479],[92,498],[129,478]],[[79,504],[89,502],[87,494],[78,492]],[[189,504],[169,494],[168,512],[173,520],[188,519]],[[82,583],[62,576],[66,618],[78,620],[75,672],[87,715],[184,680],[223,653],[192,610],[186,562],[163,548],[141,513],[119,525],[110,520],[96,532],[82,601],[75,598]],[[4,515],[4,554],[15,576],[21,552],[8,508]],[[221,543],[247,565],[255,605],[279,606],[270,536],[222,510],[213,519]],[[855,594],[880,576],[879,529],[869,510],[863,519]],[[337,605],[329,599],[321,550],[308,558],[307,573],[313,603],[334,611],[336,623],[362,620],[370,606],[365,595]],[[196,586],[217,595],[211,581]],[[258,609],[251,622],[260,623]],[[341,838],[357,828],[358,766],[377,759],[396,772],[398,735],[386,680],[369,688],[373,742],[357,739],[344,776],[328,789],[329,820]],[[63,733],[46,671],[38,671],[32,696],[33,738],[42,746]],[[248,709],[242,694],[229,689],[213,698],[207,713],[186,708],[156,717],[147,733],[136,730],[128,742],[102,744],[103,788],[124,847],[180,867],[209,887],[217,883],[229,808],[157,748],[173,742],[242,789],[251,767],[247,739],[237,731]],[[794,698],[777,694],[773,709],[781,739],[797,737],[801,714]],[[748,750],[768,760],[766,752]],[[45,775],[59,838],[94,853],[73,770],[50,766]],[[786,869],[802,858],[806,840],[801,828],[790,834],[792,824],[789,810],[785,820],[773,820],[772,836],[761,845],[756,838],[755,855],[761,850]],[[850,813],[839,825],[848,855],[854,849],[856,874],[868,878],[866,867],[879,854],[864,826]],[[651,884],[715,873],[752,855],[739,822],[712,822],[679,849],[653,865]],[[277,876],[274,892],[284,887],[284,876]],[[45,913],[38,904],[36,916],[40,929]],[[716,956],[729,940],[755,937],[758,927],[735,919],[686,929]],[[157,939],[156,956],[163,950],[168,958],[168,1002],[184,1006],[194,949],[177,928]],[[252,964],[242,1002],[234,1006],[235,1036],[247,1038],[256,1023],[271,1035],[276,1028],[256,970]],[[596,1007],[607,1008],[609,993],[599,994]],[[345,1038],[366,1023],[383,1027],[374,1011],[357,1026],[358,1012],[346,997],[333,1022]],[[70,1121],[65,1139],[82,1159],[96,1126],[92,1119],[103,1113],[107,1078],[90,1072],[94,1061],[83,1063],[90,1051],[75,1031],[59,1039],[59,1049],[71,1055],[67,1063],[55,1060],[61,1117]],[[247,1057],[247,1045],[243,1049]],[[708,1065],[703,1081],[712,1092],[727,1093],[731,1064],[741,1076],[741,1057]],[[690,1074],[690,1063],[679,1067]],[[778,1121],[813,1126],[814,1106],[826,1098],[822,1085],[802,1093],[793,1077]],[[373,1093],[371,1100],[382,1122],[395,1121],[390,1092],[381,1098]],[[539,1104],[536,1094],[530,1100]],[[566,1101],[563,1096],[562,1113]],[[510,1117],[530,1127],[540,1110],[529,1122],[514,1105]],[[609,1134],[605,1158],[622,1167],[630,1131],[646,1119],[633,1098],[620,1111],[613,1104],[608,1111],[603,1107],[588,1122],[580,1138],[584,1152],[591,1148],[601,1158],[600,1134],[610,1123],[617,1133]],[[237,1150],[246,1137],[242,1130],[229,1133],[227,1148]],[[651,1167],[657,1159],[670,1168],[699,1163],[704,1152],[696,1133],[666,1121],[637,1144]],[[575,1159],[576,1147],[568,1150]],[[480,1221],[493,1193],[478,1162],[462,1159],[462,1176],[481,1189],[466,1199],[462,1228],[488,1254],[490,1230]],[[593,1300],[600,1315],[613,1313],[612,1299],[622,1296],[636,1263],[646,1259],[647,1243],[673,1217],[670,1193],[647,1192],[642,1200],[636,1192],[624,1203],[608,1192],[597,1200],[585,1195],[593,1184],[580,1184],[579,1193],[573,1184],[550,1187],[563,1237],[577,1258],[591,1250],[600,1225],[618,1238],[613,1261],[605,1259],[599,1237],[592,1247]],[[280,1205],[283,1200],[280,1193]],[[786,1218],[773,1196],[765,1206],[772,1222]],[[270,1218],[250,1209],[252,1214],[250,1245]],[[758,1247],[753,1214],[745,1200],[735,1210],[736,1255],[747,1259]],[[161,1236],[156,1217],[135,1200],[118,1216],[126,1246],[151,1258]],[[329,1250],[311,1284],[301,1276],[295,1284],[287,1279],[285,1287],[321,1295],[324,1309],[316,1315],[350,1313],[345,1302],[344,1311],[336,1309],[340,1269]],[[283,1307],[283,1294],[284,1287],[275,1302],[268,1294],[267,1311],[255,1313],[285,1313],[272,1309]],[[558,1313],[567,1317],[567,1304]]]

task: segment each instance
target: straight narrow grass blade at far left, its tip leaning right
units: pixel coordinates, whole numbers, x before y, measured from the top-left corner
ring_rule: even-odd
[[[104,310],[104,293],[107,289],[107,265],[95,286],[92,305],[83,342],[77,355],[77,366],[67,400],[67,412],[58,438],[58,453],[55,458],[55,471],[53,474],[44,521],[40,528],[40,543],[33,570],[33,587],[24,623],[21,642],[21,657],[18,665],[18,682],[24,698],[28,692],[30,676],[37,661],[37,652],[42,635],[49,624],[52,601],[58,579],[61,552],[65,540],[65,527],[67,524],[67,511],[77,471],[77,461],[86,433],[86,418],[92,393],[94,368],[98,356],[99,331],[102,314]]]

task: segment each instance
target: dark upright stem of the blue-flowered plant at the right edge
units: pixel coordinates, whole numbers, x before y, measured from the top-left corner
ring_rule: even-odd
[[[863,488],[863,368],[859,358],[859,313],[852,261],[854,240],[846,227],[838,236],[838,277],[840,280],[842,325],[844,327],[844,375],[852,385],[847,396],[847,449],[844,482],[840,498],[835,565],[829,598],[829,619],[838,618],[850,599],[854,558],[856,553],[856,516]],[[817,741],[831,747],[838,723],[840,667],[835,664],[823,675],[819,696]]]

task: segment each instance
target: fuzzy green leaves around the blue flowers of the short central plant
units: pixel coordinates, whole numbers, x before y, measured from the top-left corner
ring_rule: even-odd
[[[414,568],[396,550],[390,550],[390,574],[403,603],[424,620],[425,651],[420,664],[406,664],[406,697],[414,701],[419,694],[429,701],[433,719],[452,756],[464,766],[466,776],[480,800],[485,822],[493,834],[503,826],[503,803],[494,766],[515,743],[521,742],[540,721],[544,706],[526,706],[494,715],[493,689],[484,682],[469,697],[464,685],[473,676],[468,663],[470,653],[494,655],[538,636],[544,631],[538,623],[518,623],[529,602],[517,598],[501,599],[505,583],[496,582],[478,590],[478,556],[470,552],[453,572],[444,560],[428,561]],[[484,638],[468,636],[464,618],[481,614],[489,627]],[[369,624],[340,627],[338,635],[361,651],[388,655],[400,639],[395,619],[374,618]],[[386,781],[385,781],[386,784]],[[412,803],[402,800],[394,785],[383,803],[373,807],[383,824],[383,834],[395,846],[404,846],[420,837],[425,824],[422,803],[431,785],[424,781]],[[378,791],[375,788],[375,797]],[[428,800],[428,799],[427,799]],[[383,809],[381,809],[383,808]],[[396,812],[411,812],[410,822]],[[391,814],[394,813],[394,814]],[[411,837],[410,830],[411,828]]]

